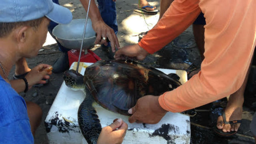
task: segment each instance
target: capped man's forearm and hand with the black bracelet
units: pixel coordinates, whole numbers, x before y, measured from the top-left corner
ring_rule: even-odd
[[[51,69],[48,68],[52,67],[51,65],[40,64],[31,69],[30,72],[25,76],[28,82],[28,88],[30,89],[33,85],[37,83],[46,83],[42,79],[49,79],[50,74],[52,74]],[[10,81],[12,88],[17,92],[20,93],[25,90],[26,84],[23,79],[14,79]]]

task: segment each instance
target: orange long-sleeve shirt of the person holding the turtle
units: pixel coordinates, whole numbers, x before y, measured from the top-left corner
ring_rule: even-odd
[[[160,106],[181,112],[216,101],[242,85],[256,45],[256,0],[174,0],[139,45],[154,53],[190,26],[200,11],[206,18],[201,71],[161,95]]]

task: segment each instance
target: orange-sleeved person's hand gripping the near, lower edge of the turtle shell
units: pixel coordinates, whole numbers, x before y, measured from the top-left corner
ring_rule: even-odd
[[[167,112],[159,105],[158,98],[157,96],[146,95],[138,99],[136,105],[128,110],[128,113],[132,114],[129,122],[158,123]]]

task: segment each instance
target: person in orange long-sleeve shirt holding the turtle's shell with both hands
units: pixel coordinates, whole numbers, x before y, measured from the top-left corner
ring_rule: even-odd
[[[229,9],[225,7],[227,4]],[[168,111],[182,112],[228,95],[233,99],[236,95],[227,106],[229,110],[225,110],[226,118],[220,116],[217,125],[223,132],[236,131],[240,124],[230,125],[228,122],[242,118],[239,117],[240,106],[256,45],[254,6],[256,2],[253,0],[232,3],[228,0],[174,0],[158,24],[138,44],[116,51],[116,59],[128,56],[142,60],[186,30],[201,11],[206,18],[205,58],[199,73],[174,91],[138,99],[135,107],[129,110],[132,114],[129,121],[154,124]]]

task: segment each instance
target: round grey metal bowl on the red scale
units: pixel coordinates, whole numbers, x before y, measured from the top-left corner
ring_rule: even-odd
[[[75,19],[69,24],[59,24],[53,30],[52,34],[61,45],[68,49],[80,49],[84,33],[85,19]],[[92,21],[87,20],[86,32],[82,49],[89,49],[94,45],[95,32],[92,29]]]

